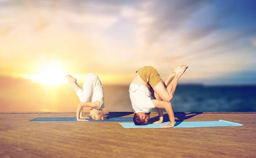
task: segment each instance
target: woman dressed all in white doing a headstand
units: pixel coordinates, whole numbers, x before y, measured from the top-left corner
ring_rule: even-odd
[[[83,107],[90,107],[90,116],[93,120],[105,120],[104,112],[104,92],[99,77],[93,73],[85,76],[83,89],[78,85],[76,78],[66,75],[69,83],[75,89],[76,95],[81,103],[77,106],[77,121],[88,121],[87,117],[82,116]]]

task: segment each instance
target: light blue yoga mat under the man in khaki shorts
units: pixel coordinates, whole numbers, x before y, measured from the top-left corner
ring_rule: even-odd
[[[134,123],[119,123],[124,128],[161,128],[160,126],[170,124],[170,122],[164,122],[162,124],[147,124],[144,126],[136,126]],[[195,122],[175,122],[174,127],[169,128],[192,128],[192,127],[219,127],[219,126],[243,126],[230,121],[195,121]]]

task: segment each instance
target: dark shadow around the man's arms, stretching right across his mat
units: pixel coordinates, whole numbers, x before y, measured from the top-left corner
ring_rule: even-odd
[[[202,114],[203,112],[188,112],[188,113],[186,113],[186,112],[175,112],[174,113],[174,116],[175,116],[175,118],[177,118],[177,119],[175,119],[175,121],[177,121],[177,122],[183,122],[184,120],[186,120],[186,119],[189,119],[189,118],[192,118],[192,117],[194,117],[194,116],[196,116],[196,115],[199,115],[199,114]],[[153,123],[153,122],[155,122],[155,121],[158,121],[159,120],[159,117],[158,116],[156,116],[156,117],[154,117],[154,118],[150,118],[149,120],[148,120],[148,122],[150,122],[150,123]],[[168,116],[168,114],[164,114],[163,115],[163,122],[168,122],[169,121],[169,116]],[[177,123],[176,123],[177,124]],[[180,124],[180,123],[179,123]]]

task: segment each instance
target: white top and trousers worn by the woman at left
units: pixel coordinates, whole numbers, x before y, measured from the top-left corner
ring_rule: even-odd
[[[99,77],[93,73],[85,76],[83,89],[76,91],[76,95],[82,103],[99,101],[95,109],[104,109],[104,92]]]

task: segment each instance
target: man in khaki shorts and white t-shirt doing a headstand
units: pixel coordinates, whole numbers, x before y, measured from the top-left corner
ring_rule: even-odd
[[[164,108],[169,116],[170,124],[161,127],[174,126],[175,118],[170,101],[173,98],[178,79],[187,68],[188,66],[181,65],[171,69],[170,76],[165,82],[152,66],[144,66],[137,70],[129,88],[131,104],[135,111],[135,125],[147,124],[149,113],[153,108],[157,108],[159,114],[159,121],[154,124],[161,124],[163,122],[162,108]],[[151,95],[153,100],[150,98]]]

